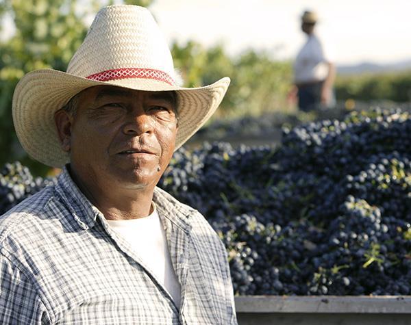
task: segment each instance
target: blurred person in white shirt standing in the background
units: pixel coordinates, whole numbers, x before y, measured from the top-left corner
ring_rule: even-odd
[[[298,105],[304,112],[334,105],[332,87],[335,68],[325,56],[323,46],[314,34],[316,22],[315,12],[306,11],[301,16],[301,30],[307,34],[308,40],[295,60],[294,81]]]

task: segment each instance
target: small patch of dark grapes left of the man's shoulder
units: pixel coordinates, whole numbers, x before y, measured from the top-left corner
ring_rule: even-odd
[[[5,164],[0,171],[0,216],[51,183],[53,179],[34,178],[18,161]]]

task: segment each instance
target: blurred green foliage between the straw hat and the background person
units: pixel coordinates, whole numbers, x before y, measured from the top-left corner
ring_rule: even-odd
[[[221,44],[204,49],[194,41],[174,42],[172,52],[187,87],[208,85],[224,76],[232,79],[214,118],[292,109],[286,102],[292,84],[290,62],[278,62],[269,53],[253,50],[231,58]]]

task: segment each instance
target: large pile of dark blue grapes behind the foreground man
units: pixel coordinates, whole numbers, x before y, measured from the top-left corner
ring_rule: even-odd
[[[353,112],[284,129],[278,148],[181,148],[159,185],[219,233],[236,294],[407,295],[410,148],[408,112]],[[46,185],[5,169],[0,213]]]

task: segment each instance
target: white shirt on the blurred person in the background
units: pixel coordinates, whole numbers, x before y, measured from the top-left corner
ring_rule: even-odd
[[[328,62],[319,38],[311,34],[295,59],[295,83],[325,80],[328,75]]]

